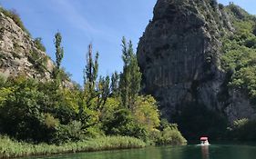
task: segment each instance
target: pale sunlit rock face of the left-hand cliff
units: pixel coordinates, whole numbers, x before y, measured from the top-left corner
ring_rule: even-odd
[[[50,79],[54,64],[14,20],[0,12],[0,73]]]

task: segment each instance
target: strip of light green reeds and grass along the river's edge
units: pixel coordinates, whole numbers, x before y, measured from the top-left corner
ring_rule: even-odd
[[[107,136],[83,142],[68,144],[27,144],[0,137],[0,158],[24,157],[31,155],[66,154],[91,152],[111,149],[127,149],[145,147],[141,140],[127,136]]]

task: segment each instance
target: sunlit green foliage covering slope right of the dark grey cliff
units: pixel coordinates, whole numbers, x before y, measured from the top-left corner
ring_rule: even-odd
[[[238,89],[247,94],[252,103],[256,102],[256,36],[253,35],[255,16],[249,15],[239,6],[230,4],[226,10],[230,13],[235,27],[233,35],[222,38],[221,65],[232,73],[229,88]]]

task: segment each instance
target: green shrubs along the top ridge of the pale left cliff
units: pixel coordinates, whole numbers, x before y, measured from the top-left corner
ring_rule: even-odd
[[[0,6],[0,12],[2,12],[4,15],[8,16],[9,18],[13,19],[16,25],[18,25],[23,31],[26,32],[27,35],[30,36],[30,33],[26,30],[25,25],[21,21],[19,15],[17,14],[16,10],[6,10],[3,7]]]

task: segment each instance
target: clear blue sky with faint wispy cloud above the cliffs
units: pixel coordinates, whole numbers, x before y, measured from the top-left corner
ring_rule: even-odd
[[[121,38],[132,40],[134,48],[157,0],[0,0],[15,9],[33,37],[42,37],[46,53],[55,59],[54,35],[63,36],[65,57],[62,66],[77,83],[83,82],[87,45],[99,52],[99,75],[122,70]],[[229,0],[220,0],[227,5]],[[256,15],[255,0],[233,0]]]

